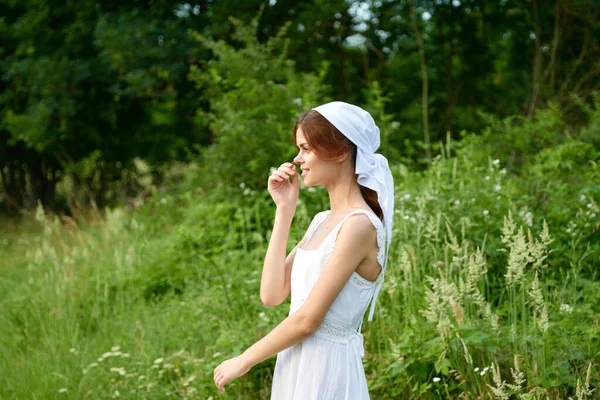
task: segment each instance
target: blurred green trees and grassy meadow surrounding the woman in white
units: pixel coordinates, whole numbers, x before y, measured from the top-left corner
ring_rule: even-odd
[[[287,315],[267,178],[342,100],[396,185],[372,398],[596,398],[599,42],[596,0],[1,0],[0,397],[269,398],[212,370]]]

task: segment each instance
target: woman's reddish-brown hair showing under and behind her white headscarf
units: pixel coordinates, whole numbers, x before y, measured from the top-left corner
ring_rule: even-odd
[[[296,143],[296,132],[299,127],[302,127],[308,145],[321,160],[336,161],[350,153],[353,170],[356,169],[356,145],[333,126],[327,118],[314,110],[300,114],[294,125],[294,143]],[[383,211],[377,200],[377,192],[361,184],[358,186],[363,199],[379,219],[383,220]]]

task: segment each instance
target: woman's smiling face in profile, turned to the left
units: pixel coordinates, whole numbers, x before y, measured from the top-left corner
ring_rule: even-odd
[[[306,141],[301,127],[296,130],[296,147],[298,155],[294,157],[294,164],[302,168],[300,176],[305,186],[327,186],[327,182],[335,180],[340,165],[320,160]]]

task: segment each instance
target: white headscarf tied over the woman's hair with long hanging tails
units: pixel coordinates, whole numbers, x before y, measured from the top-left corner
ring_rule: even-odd
[[[373,319],[375,302],[383,285],[388,251],[392,243],[392,220],[394,216],[394,180],[387,159],[375,151],[379,148],[380,132],[373,117],[362,108],[333,101],[313,108],[335,126],[344,136],[356,145],[356,174],[358,183],[377,192],[377,199],[383,211],[383,225],[386,228],[385,257],[381,281],[375,288],[369,321]]]

